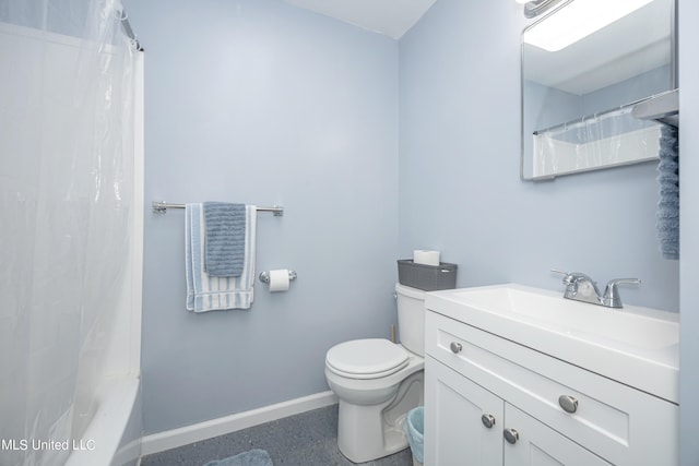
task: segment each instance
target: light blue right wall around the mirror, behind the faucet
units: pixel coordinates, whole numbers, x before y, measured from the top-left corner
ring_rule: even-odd
[[[401,40],[400,254],[442,251],[459,286],[561,290],[557,267],[601,285],[640,277],[628,303],[677,311],[678,263],[655,238],[654,165],[522,182],[513,1],[439,0]]]

